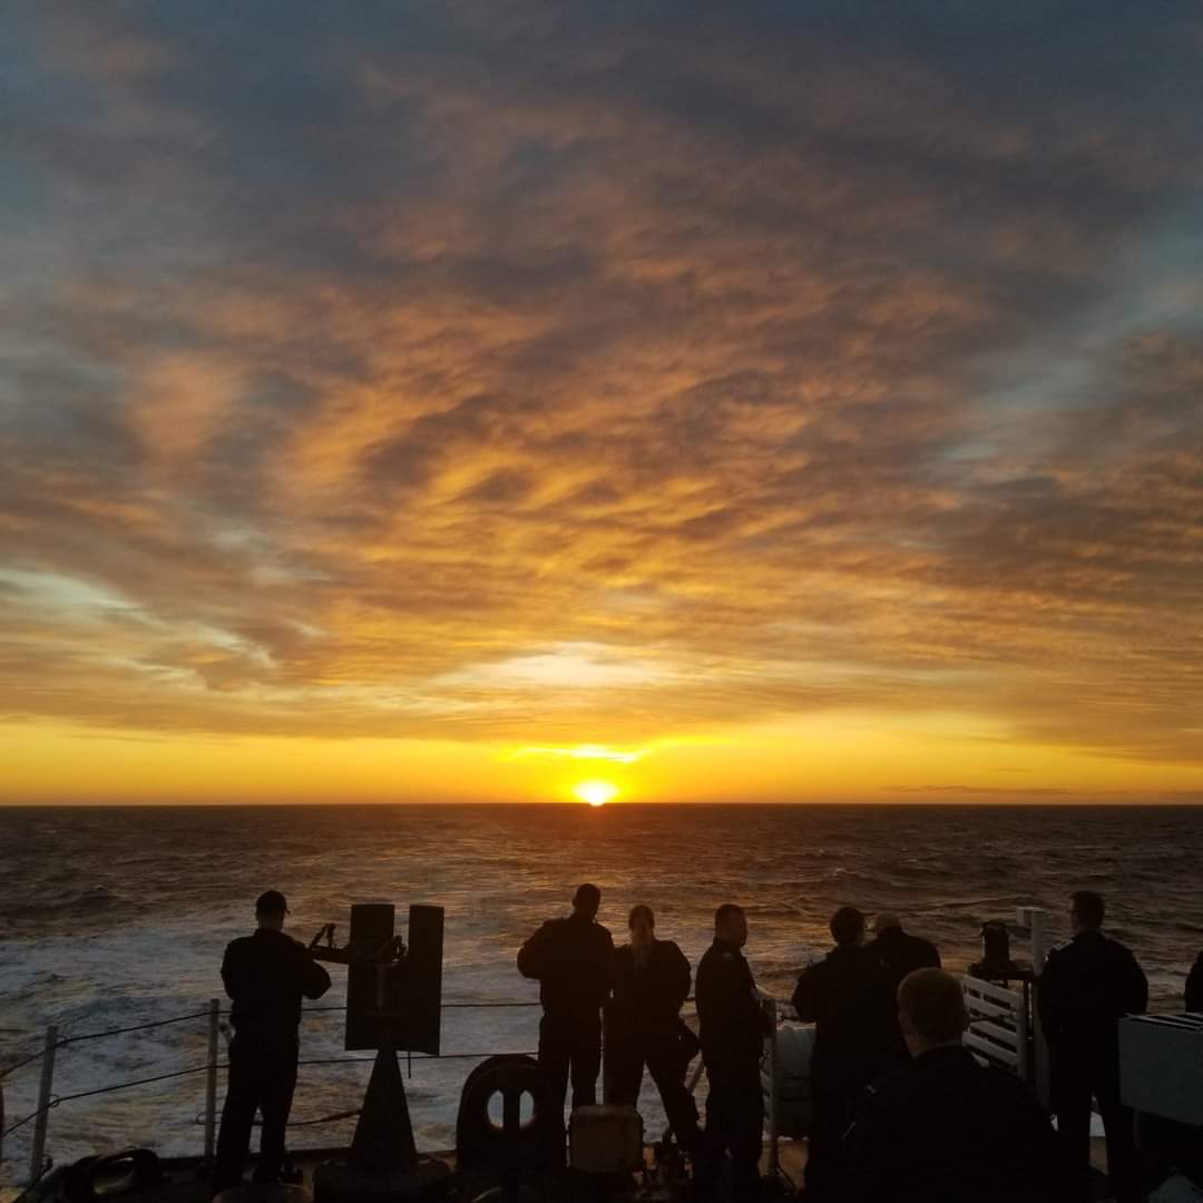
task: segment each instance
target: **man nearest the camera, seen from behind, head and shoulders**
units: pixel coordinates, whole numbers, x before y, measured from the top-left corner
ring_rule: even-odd
[[[841,1203],[1063,1203],[1053,1126],[1029,1086],[961,1047],[965,996],[950,973],[897,992],[912,1065],[866,1091],[843,1142]]]

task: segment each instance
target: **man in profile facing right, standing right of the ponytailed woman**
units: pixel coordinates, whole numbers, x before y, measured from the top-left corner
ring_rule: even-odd
[[[715,912],[715,942],[698,965],[701,1059],[710,1084],[706,1131],[694,1162],[698,1199],[717,1197],[727,1151],[731,1155],[734,1197],[740,1203],[760,1197],[760,1054],[769,1019],[760,1007],[748,962],[740,953],[747,938],[743,909],[724,902]]]

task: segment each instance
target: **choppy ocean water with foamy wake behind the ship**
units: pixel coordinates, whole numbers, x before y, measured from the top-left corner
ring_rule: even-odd
[[[801,965],[828,947],[841,905],[897,911],[936,941],[946,965],[979,953],[986,919],[1020,903],[1051,911],[1068,935],[1067,895],[1100,890],[1108,930],[1149,974],[1152,1009],[1180,1007],[1203,946],[1203,811],[1118,807],[178,807],[0,810],[0,1066],[36,1051],[45,1026],[82,1036],[200,1012],[221,994],[226,942],[253,926],[253,901],[282,889],[289,930],[308,942],[326,921],[345,936],[352,901],[446,908],[444,998],[533,1002],[514,965],[545,918],[565,913],[577,882],[603,890],[600,919],[626,935],[635,902],[697,964],[718,902],[747,908],[758,982],[788,996]],[[1017,955],[1023,944],[1013,946]],[[344,1001],[345,971],[315,1006]],[[478,1055],[535,1047],[538,1007],[444,1012],[443,1049],[407,1080],[420,1148],[454,1144],[460,1088]],[[342,1051],[337,1012],[306,1017],[302,1056]],[[362,1054],[358,1054],[362,1056]],[[59,1096],[202,1065],[205,1020],[60,1049]],[[304,1066],[294,1120],[358,1104],[367,1062]],[[663,1118],[645,1083],[650,1132]],[[4,1079],[7,1122],[32,1110],[37,1065]],[[200,1151],[203,1074],[63,1102],[48,1150],[64,1162],[147,1144]],[[343,1143],[351,1121],[313,1124],[295,1148]],[[5,1140],[0,1184],[23,1179],[29,1125]]]

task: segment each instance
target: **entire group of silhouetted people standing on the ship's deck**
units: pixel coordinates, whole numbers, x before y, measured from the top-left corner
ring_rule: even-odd
[[[651,907],[630,909],[629,941],[616,949],[597,921],[600,903],[598,887],[580,885],[571,912],[544,923],[517,954],[520,972],[539,982],[538,1059],[561,1119],[569,1084],[575,1110],[597,1102],[599,1075],[608,1104],[633,1107],[646,1068],[669,1120],[664,1148],[675,1142],[692,1160],[693,1197],[755,1201],[761,1056],[772,1029],[743,955],[747,915],[733,902],[716,909],[713,941],[694,979],[677,944],[657,935]],[[257,930],[233,941],[221,966],[236,1035],[218,1189],[241,1180],[256,1109],[263,1115],[256,1179],[279,1177],[301,998],[330,985],[309,950],[283,934],[286,913],[283,895],[261,895]],[[936,947],[889,912],[876,915],[866,941],[865,915],[840,907],[830,921],[834,946],[802,970],[793,995],[798,1018],[814,1025],[806,1198],[1084,1203],[1095,1100],[1115,1198],[1139,1199],[1133,1115],[1119,1088],[1119,1020],[1145,1011],[1148,983],[1132,953],[1104,935],[1103,918],[1097,894],[1073,894],[1073,938],[1049,954],[1036,989],[1054,1130],[1026,1083],[988,1068],[962,1044],[964,991],[941,968]],[[681,1018],[692,982],[697,1035]],[[1185,1002],[1203,1011],[1203,953]],[[699,1051],[709,1085],[705,1126],[686,1085]]]

